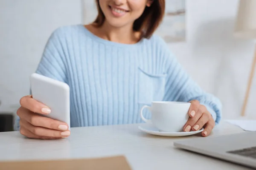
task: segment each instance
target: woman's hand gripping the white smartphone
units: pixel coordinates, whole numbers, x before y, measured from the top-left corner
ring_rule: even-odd
[[[67,123],[40,115],[50,114],[51,110],[32,96],[22,97],[20,105],[17,115],[20,117],[22,135],[35,139],[61,139],[70,136]]]

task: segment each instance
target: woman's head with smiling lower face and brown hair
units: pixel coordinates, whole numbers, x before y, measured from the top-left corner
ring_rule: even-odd
[[[133,31],[140,32],[139,40],[151,37],[165,12],[164,0],[131,0],[122,8],[111,0],[96,0],[96,4],[99,12],[93,22],[95,26],[101,27],[105,19],[115,27],[133,25]]]

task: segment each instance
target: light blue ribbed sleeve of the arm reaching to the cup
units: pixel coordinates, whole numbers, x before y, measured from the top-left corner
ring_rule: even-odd
[[[186,73],[185,69],[170,52],[164,53],[166,61],[166,91],[164,100],[189,102],[198,100],[201,105],[205,105],[212,114],[215,124],[221,120],[222,105],[220,100],[212,94],[203,91],[199,85]]]

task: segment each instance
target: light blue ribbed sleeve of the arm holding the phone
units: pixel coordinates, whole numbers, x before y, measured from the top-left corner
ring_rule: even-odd
[[[62,82],[67,82],[65,54],[63,48],[63,36],[61,28],[56,29],[50,35],[47,44],[44,48],[41,61],[38,64],[36,73],[56,79]],[[14,130],[20,129],[20,118],[17,116],[14,123]]]

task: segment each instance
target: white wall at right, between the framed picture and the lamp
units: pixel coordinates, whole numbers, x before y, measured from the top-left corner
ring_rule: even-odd
[[[187,41],[170,48],[206,91],[223,102],[224,118],[241,114],[253,59],[251,40],[233,37],[239,0],[187,0]],[[256,77],[246,114],[256,117]],[[254,116],[255,115],[255,116]]]

